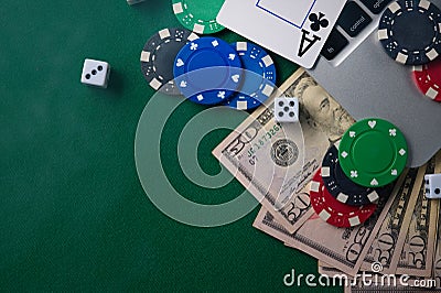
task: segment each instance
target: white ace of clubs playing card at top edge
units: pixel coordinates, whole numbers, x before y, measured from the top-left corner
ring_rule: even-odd
[[[346,0],[226,0],[217,22],[311,68]]]

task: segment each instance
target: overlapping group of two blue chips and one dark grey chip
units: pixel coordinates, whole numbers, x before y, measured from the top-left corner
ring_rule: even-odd
[[[141,70],[148,84],[201,105],[259,107],[275,90],[276,66],[256,44],[227,44],[186,29],[164,29],[146,43]]]

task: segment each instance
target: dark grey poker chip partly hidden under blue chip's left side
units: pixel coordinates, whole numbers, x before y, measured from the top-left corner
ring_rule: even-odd
[[[173,80],[173,62],[181,48],[198,36],[185,29],[163,29],[147,41],[141,52],[141,72],[155,90],[180,95]]]

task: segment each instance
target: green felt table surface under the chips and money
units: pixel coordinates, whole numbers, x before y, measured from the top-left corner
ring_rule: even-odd
[[[226,226],[197,228],[169,218],[146,196],[133,146],[154,91],[139,56],[150,35],[180,26],[171,1],[0,6],[1,291],[281,291],[292,269],[318,275],[315,259],[251,227],[258,208]],[[244,40],[227,30],[216,36]],[[280,85],[298,66],[271,56]],[[79,83],[86,57],[110,63],[108,89]],[[237,181],[195,191],[178,163],[176,135],[202,109],[184,102],[184,115],[168,122],[164,170],[186,198],[228,202],[244,191]],[[227,133],[201,142],[207,173],[219,171],[211,151]]]

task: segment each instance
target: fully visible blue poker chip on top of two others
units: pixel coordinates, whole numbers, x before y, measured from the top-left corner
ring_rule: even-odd
[[[174,61],[173,74],[181,93],[191,101],[217,105],[241,84],[241,62],[226,42],[201,37],[186,44]]]

